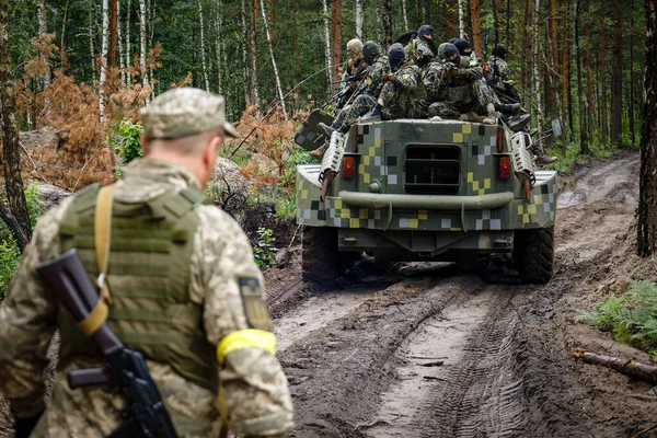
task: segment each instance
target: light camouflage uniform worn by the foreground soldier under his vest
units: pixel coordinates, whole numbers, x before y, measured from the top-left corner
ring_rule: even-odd
[[[194,99],[187,102],[198,104]],[[155,103],[157,99],[151,106]],[[185,110],[180,100],[178,107]],[[194,129],[189,128],[188,118],[186,124],[177,124],[175,117],[168,115],[170,117],[163,115],[160,123],[154,119],[157,115],[152,116],[148,126],[145,119],[147,136],[176,128],[187,130],[187,135]],[[217,125],[222,123],[223,113]],[[227,125],[223,126],[227,132],[237,134]],[[140,203],[187,187],[201,188],[191,171],[143,158],[124,168],[123,177],[115,185],[114,199]],[[8,298],[0,306],[0,392],[21,418],[44,410],[42,372],[48,364],[46,353],[62,318],[70,318],[53,292],[44,287],[35,268],[60,254],[60,224],[71,205],[74,199],[68,198],[41,218]],[[198,224],[191,243],[188,300],[201,308],[203,336],[210,346],[217,346],[227,335],[250,327],[240,279],[254,278],[262,285],[263,277],[254,263],[249,240],[233,219],[214,206],[196,206],[194,211]],[[108,274],[112,285],[112,265]],[[110,303],[111,316],[112,307]],[[143,324],[149,326],[149,322]],[[64,347],[62,342],[60,351]],[[94,354],[77,356],[69,364],[59,362],[49,403],[32,437],[103,437],[118,427],[119,411],[125,405],[122,395],[100,388],[71,390],[66,380],[70,370],[102,365],[103,358]],[[147,365],[177,435],[216,437],[221,423],[218,394],[186,380],[166,362],[147,360]],[[238,436],[283,436],[292,427],[287,380],[274,355],[257,347],[235,349],[226,354],[223,367],[217,369],[219,392],[226,400]]]

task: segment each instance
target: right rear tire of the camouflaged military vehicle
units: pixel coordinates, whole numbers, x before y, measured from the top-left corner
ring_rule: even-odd
[[[550,281],[554,273],[554,228],[517,231],[514,260],[522,281]]]

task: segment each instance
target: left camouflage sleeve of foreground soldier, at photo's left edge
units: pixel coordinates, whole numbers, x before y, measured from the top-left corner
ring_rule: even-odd
[[[42,374],[48,364],[46,353],[57,324],[57,306],[36,267],[58,255],[58,223],[70,200],[39,219],[0,304],[0,392],[20,417],[44,408]]]

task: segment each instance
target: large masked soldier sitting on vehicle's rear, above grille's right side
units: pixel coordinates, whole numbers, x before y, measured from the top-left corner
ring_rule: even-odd
[[[496,124],[493,93],[482,81],[484,71],[477,60],[461,56],[459,49],[449,43],[445,45],[442,55],[445,68],[439,84],[433,91],[437,102],[429,105],[429,115]]]

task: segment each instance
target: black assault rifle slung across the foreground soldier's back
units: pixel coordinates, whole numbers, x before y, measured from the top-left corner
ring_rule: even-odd
[[[143,356],[124,346],[106,324],[107,306],[89,279],[78,252],[71,250],[46,262],[39,265],[37,272],[79,326],[88,328],[83,332],[91,333],[90,337],[107,359],[103,368],[70,371],[69,387],[110,385],[126,399],[127,404],[122,412],[124,422],[110,437],[177,438]]]

